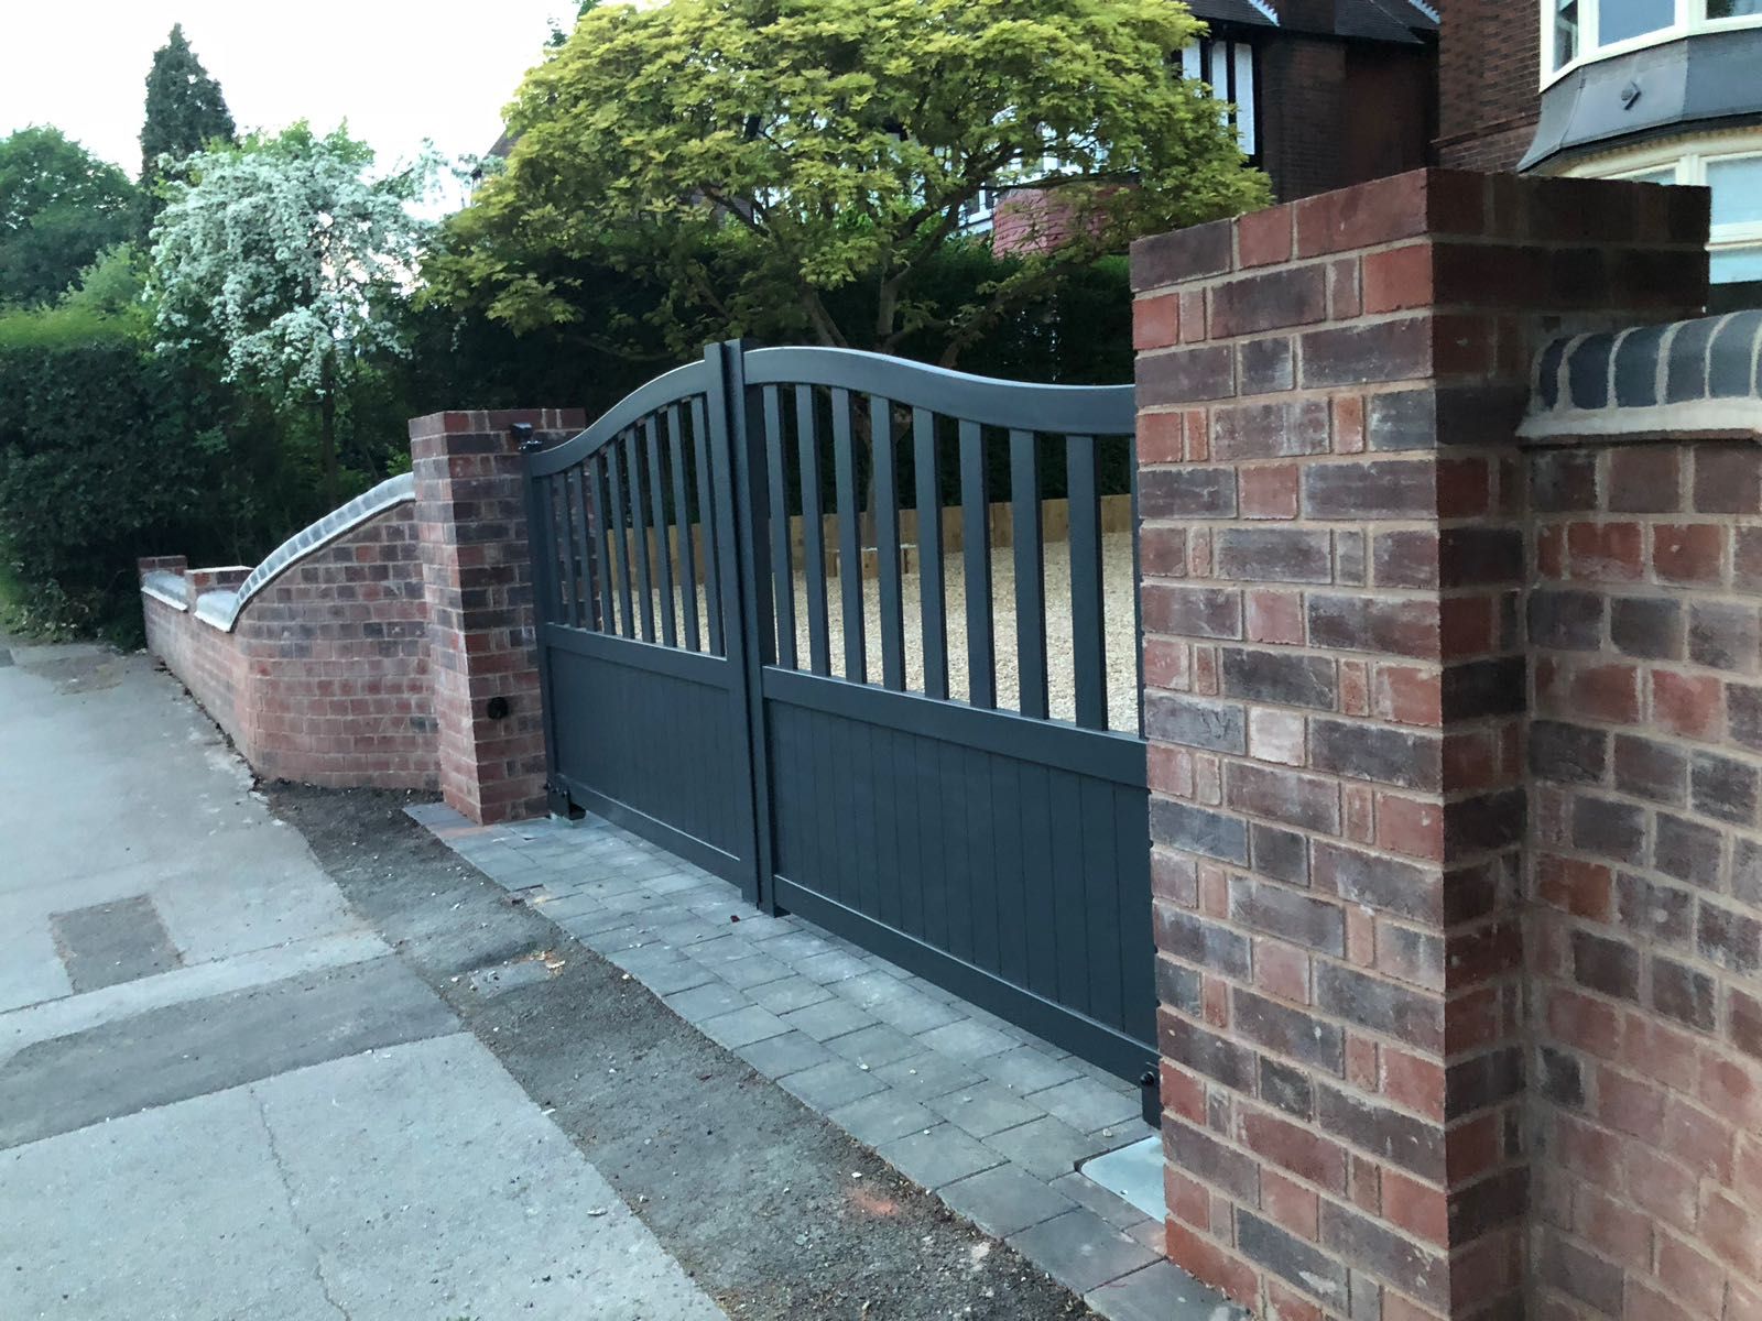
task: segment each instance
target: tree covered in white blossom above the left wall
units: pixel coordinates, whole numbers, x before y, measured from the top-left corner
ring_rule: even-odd
[[[296,123],[180,166],[153,227],[162,349],[208,349],[224,379],[280,405],[319,405],[324,493],[337,498],[337,393],[356,363],[402,356],[430,225],[412,215],[435,160],[374,174],[344,129]]]

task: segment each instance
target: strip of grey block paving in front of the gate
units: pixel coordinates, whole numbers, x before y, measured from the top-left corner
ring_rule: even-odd
[[[1121,1321],[1240,1316],[1161,1256],[1163,1222],[1077,1171],[1151,1131],[1138,1092],[879,955],[759,914],[597,817],[409,814],[913,1182]]]

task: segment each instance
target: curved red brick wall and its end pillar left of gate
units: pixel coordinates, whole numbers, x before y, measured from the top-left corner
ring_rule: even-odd
[[[139,562],[148,648],[259,775],[439,789],[483,823],[544,810],[515,424],[553,442],[585,421],[578,409],[412,421],[414,498],[298,550],[231,629],[199,604],[248,569]]]

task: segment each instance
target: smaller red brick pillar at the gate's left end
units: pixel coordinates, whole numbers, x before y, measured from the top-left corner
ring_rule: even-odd
[[[578,409],[435,412],[411,423],[440,791],[479,823],[544,810],[544,713],[516,424],[559,440],[585,423]]]

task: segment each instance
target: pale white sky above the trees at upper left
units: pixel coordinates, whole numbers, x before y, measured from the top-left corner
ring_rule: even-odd
[[[241,130],[347,120],[382,162],[423,139],[481,155],[573,0],[0,0],[0,136],[53,123],[129,178],[141,107],[173,23]]]

